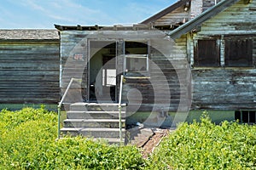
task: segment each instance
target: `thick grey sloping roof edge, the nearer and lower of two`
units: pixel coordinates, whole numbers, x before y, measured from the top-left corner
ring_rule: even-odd
[[[175,30],[170,31],[168,34],[172,39],[176,39],[181,37],[183,34],[186,34],[189,31],[193,31],[196,27],[201,26],[201,24],[211,19],[213,16],[217,15],[218,13],[222,12],[225,8],[230,7],[234,3],[239,2],[240,0],[223,0],[220,3],[217,3],[212,8],[208,8],[202,14],[196,16],[193,20],[189,20],[182,26],[177,27]]]

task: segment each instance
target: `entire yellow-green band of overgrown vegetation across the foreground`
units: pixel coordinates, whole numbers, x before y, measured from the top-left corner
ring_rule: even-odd
[[[256,127],[237,122],[181,124],[143,159],[134,146],[81,137],[55,140],[44,108],[0,112],[0,169],[256,169]]]

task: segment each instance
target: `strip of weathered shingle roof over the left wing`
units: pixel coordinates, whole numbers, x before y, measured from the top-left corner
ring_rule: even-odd
[[[0,40],[58,40],[60,39],[56,30],[0,30]]]

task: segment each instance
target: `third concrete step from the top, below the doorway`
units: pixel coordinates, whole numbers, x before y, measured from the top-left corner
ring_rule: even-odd
[[[121,120],[125,127],[125,120]],[[119,119],[66,119],[64,127],[108,127],[119,128]]]

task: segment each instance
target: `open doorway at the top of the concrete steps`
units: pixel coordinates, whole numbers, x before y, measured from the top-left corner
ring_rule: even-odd
[[[116,101],[116,42],[90,41],[89,100]]]

